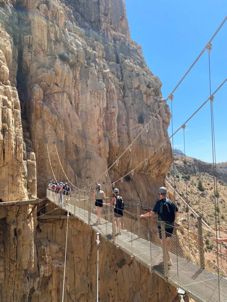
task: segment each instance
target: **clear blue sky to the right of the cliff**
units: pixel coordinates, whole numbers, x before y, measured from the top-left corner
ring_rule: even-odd
[[[142,45],[146,63],[162,81],[162,95],[167,98],[224,20],[227,0],[125,0],[125,3],[131,37]],[[212,41],[210,59],[213,92],[227,77],[227,21]],[[206,51],[174,93],[173,132],[208,97]],[[225,162],[227,82],[215,94],[213,110],[216,162]],[[185,141],[187,156],[212,162],[210,102],[187,123]],[[183,151],[182,130],[173,137],[173,145]]]

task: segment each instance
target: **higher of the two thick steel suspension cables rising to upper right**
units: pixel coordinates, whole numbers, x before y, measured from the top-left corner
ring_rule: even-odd
[[[223,24],[225,23],[226,20],[227,20],[227,16],[222,21],[222,23],[219,26],[219,28],[215,31],[215,33],[213,34],[212,38],[209,40],[210,43],[212,42],[212,40],[214,39],[214,37],[216,36],[216,34],[219,32],[219,30],[221,29],[221,27],[223,26]],[[187,70],[187,72],[185,73],[185,75],[183,76],[183,78],[179,81],[179,83],[176,85],[176,87],[173,89],[173,91],[170,93],[170,95],[173,95],[173,93],[176,91],[176,89],[181,84],[181,82],[185,79],[185,77],[187,76],[187,74],[190,72],[190,70],[192,69],[192,67],[196,64],[196,62],[199,60],[199,58],[202,56],[202,54],[204,53],[205,50],[206,50],[206,46],[203,48],[203,50],[201,51],[201,53],[199,54],[199,56],[196,58],[196,60],[192,63],[192,65],[189,67],[189,69]],[[150,122],[151,122],[151,120],[159,113],[159,111],[164,106],[164,104],[166,104],[166,102],[168,101],[168,99],[169,99],[169,96],[165,99],[165,101],[163,102],[163,104],[161,104],[160,108],[156,111],[156,113],[150,118],[150,120],[148,121],[147,125],[149,125]],[[135,137],[135,139],[131,142],[131,144],[133,144],[137,140],[137,138],[140,137],[140,135],[144,132],[144,130],[145,130],[145,127],[138,133],[137,137]],[[118,160],[124,155],[124,153],[127,151],[127,149],[129,149],[129,146],[118,157]],[[107,171],[109,171],[113,167],[114,164],[115,164],[115,162],[113,162],[113,164],[107,169]],[[104,175],[104,173],[102,175],[100,175],[99,178],[101,178]],[[93,184],[94,182],[95,181],[91,182],[90,185]],[[89,185],[87,185],[83,189],[87,188],[88,186]]]

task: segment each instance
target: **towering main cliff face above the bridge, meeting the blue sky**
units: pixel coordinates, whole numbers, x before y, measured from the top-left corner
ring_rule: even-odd
[[[13,70],[8,73],[17,88],[38,163],[38,195],[52,175],[46,140],[56,177],[62,178],[63,172],[53,140],[71,182],[84,187],[117,159],[163,103],[161,82],[146,66],[141,47],[130,38],[123,0],[18,0],[3,1],[2,7],[1,24],[12,52],[8,69],[13,66]],[[17,110],[20,119],[19,103]],[[111,170],[108,183],[166,140],[169,118],[165,105],[148,134],[145,131],[132,153],[127,151],[121,158],[118,171]],[[22,150],[22,138],[20,144]],[[170,154],[168,142],[165,172]],[[147,173],[143,169],[136,171],[132,183],[119,184],[125,199],[131,198],[127,192],[133,187],[134,200],[146,203],[144,184],[149,182],[152,189],[162,184],[162,152],[150,159]],[[152,191],[149,196],[153,197]]]

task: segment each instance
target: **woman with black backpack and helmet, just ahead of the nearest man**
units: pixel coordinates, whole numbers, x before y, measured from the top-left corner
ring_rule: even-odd
[[[114,207],[114,224],[115,224],[115,232],[116,232],[116,227],[118,226],[118,234],[121,234],[121,218],[123,217],[123,209],[124,209],[124,203],[123,203],[123,199],[121,196],[118,196],[119,194],[119,190],[117,188],[115,188],[113,190],[113,198],[110,201],[109,204],[104,204],[107,206],[113,206]]]

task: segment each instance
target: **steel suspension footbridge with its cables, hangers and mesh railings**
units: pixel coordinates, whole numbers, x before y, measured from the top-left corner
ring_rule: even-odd
[[[217,241],[215,242],[215,246],[211,251],[207,251],[204,247],[204,243],[208,238],[205,235],[204,230],[206,230],[208,225],[206,223],[202,224],[202,220],[200,217],[197,219],[190,219],[188,212],[190,207],[188,205],[188,196],[186,194],[186,205],[187,211],[185,213],[185,219],[179,217],[179,221],[175,221],[174,233],[171,239],[170,246],[170,258],[172,259],[173,265],[169,266],[167,263],[166,252],[165,252],[165,236],[163,236],[163,248],[160,246],[158,230],[157,230],[157,217],[154,215],[153,217],[149,217],[148,219],[140,219],[140,214],[145,214],[150,211],[149,207],[141,207],[140,205],[132,205],[126,206],[124,209],[124,215],[122,218],[122,231],[121,234],[115,232],[114,226],[114,214],[113,208],[104,206],[101,215],[101,223],[97,223],[97,213],[94,206],[93,201],[93,190],[92,185],[97,184],[97,182],[108,176],[109,170],[113,167],[118,167],[120,160],[122,160],[123,155],[133,149],[133,144],[140,137],[142,133],[148,133],[150,128],[151,120],[153,120],[160,112],[161,108],[163,108],[164,104],[166,104],[167,100],[171,101],[171,114],[173,116],[173,93],[176,91],[178,86],[181,84],[183,79],[187,76],[202,54],[207,50],[208,51],[208,65],[209,65],[209,97],[206,101],[201,104],[201,106],[181,125],[178,130],[173,133],[173,121],[172,121],[172,135],[168,137],[164,142],[160,144],[160,146],[154,150],[152,153],[147,154],[147,157],[140,162],[136,167],[132,167],[127,174],[121,176],[116,179],[110,185],[106,184],[107,188],[112,190],[113,187],[116,186],[117,182],[123,181],[128,175],[131,176],[131,181],[133,178],[133,174],[136,173],[138,168],[148,171],[148,163],[149,159],[156,152],[163,152],[163,148],[166,143],[169,142],[169,139],[172,139],[172,147],[173,147],[173,137],[174,135],[181,129],[183,129],[183,139],[185,141],[185,127],[189,120],[191,120],[194,115],[200,111],[205,104],[210,102],[210,110],[211,110],[211,135],[212,135],[212,153],[213,153],[213,182],[214,182],[214,192],[217,188],[217,179],[215,177],[215,169],[216,169],[216,160],[215,160],[215,135],[214,135],[214,119],[213,119],[213,100],[215,93],[222,88],[227,79],[224,79],[222,83],[220,83],[219,87],[216,88],[214,92],[211,92],[211,80],[210,80],[210,52],[212,49],[212,40],[216,36],[216,34],[221,29],[222,25],[225,23],[227,17],[222,22],[220,27],[217,29],[215,34],[209,40],[207,45],[204,47],[202,52],[190,66],[186,74],[179,81],[173,91],[170,93],[169,97],[166,98],[163,104],[160,104],[159,109],[156,113],[153,114],[150,121],[145,125],[145,127],[138,133],[138,135],[130,142],[127,149],[118,156],[118,158],[110,165],[110,167],[103,171],[103,174],[94,179],[89,185],[86,185],[84,188],[77,188],[72,182],[70,182],[66,173],[64,172],[61,160],[58,155],[57,142],[53,141],[56,149],[56,154],[59,160],[59,165],[64,172],[67,181],[71,185],[71,194],[70,198],[66,200],[66,194],[62,194],[63,197],[63,205],[64,209],[77,217],[82,222],[89,225],[94,231],[100,233],[100,235],[106,240],[113,243],[117,249],[122,249],[128,255],[131,256],[132,259],[136,259],[144,266],[150,269],[150,272],[155,272],[161,278],[164,278],[167,282],[175,286],[176,288],[180,288],[185,291],[186,295],[191,297],[193,300],[197,302],[227,302],[227,278],[225,277],[227,272],[224,270],[223,263],[226,263],[227,260],[227,252],[225,246],[222,246]],[[51,159],[49,156],[48,150],[48,141],[46,141],[47,153],[49,158],[49,163],[51,166],[51,174],[58,184],[59,175],[54,174],[54,170],[51,164]],[[184,143],[185,149],[185,143]],[[184,150],[185,154],[185,150]],[[174,164],[174,157],[173,157]],[[145,167],[145,168],[144,168]],[[173,165],[174,167],[174,165]],[[118,173],[117,173],[118,174]],[[174,168],[173,168],[173,176]],[[164,177],[164,175],[163,175]],[[187,180],[186,180],[187,182]],[[107,182],[106,182],[107,183]],[[186,185],[187,187],[187,185]],[[176,200],[176,191],[175,185],[173,188],[173,197]],[[215,194],[214,194],[215,195]],[[47,190],[46,198],[50,202],[53,202],[57,206],[61,206],[59,201],[59,195],[55,194],[55,192],[51,190]],[[221,225],[219,223],[219,213],[216,211],[219,205],[218,198],[214,198],[214,210],[215,210],[215,234],[218,237],[220,235]],[[44,219],[41,217],[41,219]],[[67,216],[68,219],[68,216]],[[178,223],[179,222],[179,223]],[[164,234],[165,228],[162,225],[162,232]],[[67,242],[67,241],[66,241]],[[210,261],[210,259],[212,259]],[[66,261],[66,259],[65,259]],[[215,265],[211,265],[210,262]]]

